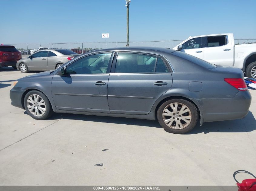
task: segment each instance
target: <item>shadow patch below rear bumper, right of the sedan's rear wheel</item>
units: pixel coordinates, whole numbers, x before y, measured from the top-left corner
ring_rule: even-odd
[[[197,134],[204,133],[207,134],[209,132],[251,132],[256,129],[256,120],[249,111],[247,116],[243,119],[235,119],[228,121],[217,121],[217,122],[207,122],[204,123],[203,126],[200,127],[198,123],[194,129],[188,134]]]

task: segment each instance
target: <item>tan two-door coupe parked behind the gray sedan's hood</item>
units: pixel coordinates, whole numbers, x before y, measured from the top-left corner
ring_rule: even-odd
[[[15,67],[22,73],[55,70],[75,56],[79,56],[79,54],[67,49],[41,50],[19,60]]]

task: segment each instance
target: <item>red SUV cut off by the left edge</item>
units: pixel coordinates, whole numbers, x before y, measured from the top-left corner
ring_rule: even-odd
[[[0,68],[4,66],[12,66],[16,68],[16,62],[22,58],[21,53],[11,45],[0,45]]]

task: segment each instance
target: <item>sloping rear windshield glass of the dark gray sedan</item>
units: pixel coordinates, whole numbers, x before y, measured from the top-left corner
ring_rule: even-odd
[[[186,54],[186,53],[182,53],[180,51],[175,51],[175,52],[173,52],[171,54],[173,54],[175,56],[178,56],[180,58],[183,58],[185,60],[188,60],[190,62],[194,62],[195,64],[200,65],[200,66],[202,66],[204,68],[208,68],[208,69],[216,68],[216,65],[211,64],[210,62],[206,62],[206,61],[201,60],[201,59],[199,59],[197,57],[191,56],[191,55]]]

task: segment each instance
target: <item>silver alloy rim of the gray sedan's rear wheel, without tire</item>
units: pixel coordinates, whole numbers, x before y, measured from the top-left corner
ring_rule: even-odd
[[[183,103],[170,103],[163,110],[163,120],[172,129],[184,129],[191,123],[191,111]]]

